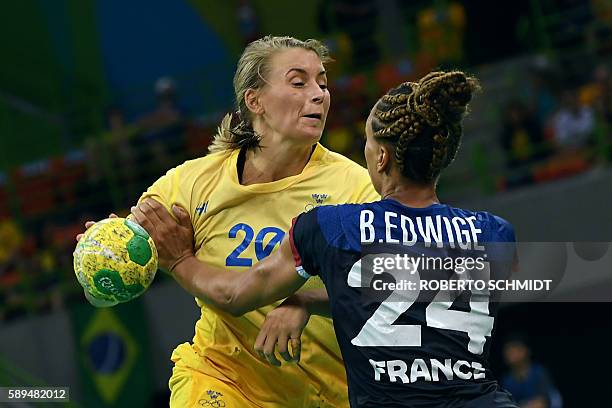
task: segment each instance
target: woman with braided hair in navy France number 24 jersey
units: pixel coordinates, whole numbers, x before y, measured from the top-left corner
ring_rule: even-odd
[[[441,204],[436,195],[478,88],[475,78],[454,71],[390,90],[365,129],[368,171],[382,199],[300,214],[279,250],[246,273],[199,262],[187,247],[164,243],[158,250],[178,260],[174,276],[190,293],[234,315],[320,277],[352,407],[516,407],[488,368],[496,294],[488,285],[466,286],[510,273],[513,228],[490,213]],[[151,211],[177,236],[191,234],[185,212],[177,223],[161,206]],[[450,267],[427,266],[438,258]],[[274,361],[273,352],[263,354]]]

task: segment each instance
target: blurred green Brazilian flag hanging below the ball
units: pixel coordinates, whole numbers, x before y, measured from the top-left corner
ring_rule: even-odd
[[[140,299],[112,308],[71,308],[86,407],[147,407],[154,384]]]

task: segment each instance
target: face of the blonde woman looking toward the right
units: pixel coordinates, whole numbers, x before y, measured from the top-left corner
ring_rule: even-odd
[[[263,136],[276,134],[283,140],[318,142],[330,97],[325,69],[317,54],[303,48],[277,52],[271,58],[266,82],[259,93]]]

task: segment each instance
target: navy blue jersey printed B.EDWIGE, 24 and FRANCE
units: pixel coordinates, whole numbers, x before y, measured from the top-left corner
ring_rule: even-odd
[[[290,239],[298,273],[327,288],[351,406],[512,406],[487,363],[496,293],[486,283],[511,273],[508,222],[387,199],[315,208]],[[488,396],[506,405],[482,405]]]

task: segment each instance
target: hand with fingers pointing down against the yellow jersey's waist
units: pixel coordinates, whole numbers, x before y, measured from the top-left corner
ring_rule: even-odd
[[[274,352],[275,348],[286,362],[300,361],[302,349],[300,337],[310,319],[310,313],[296,299],[295,296],[289,297],[268,313],[255,340],[255,351],[274,366],[281,365]],[[289,354],[289,342],[293,355]]]

